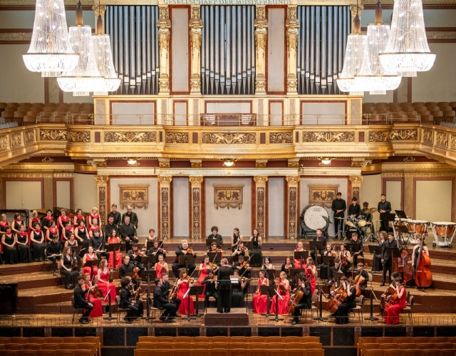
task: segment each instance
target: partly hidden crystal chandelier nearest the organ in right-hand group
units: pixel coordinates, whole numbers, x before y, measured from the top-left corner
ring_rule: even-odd
[[[337,78],[337,85],[341,91],[350,92],[351,95],[362,94],[355,88],[355,75],[358,74],[363,63],[366,48],[366,35],[361,35],[361,21],[356,4],[356,16],[353,20],[353,33],[348,35],[345,58],[343,59],[342,73]]]

